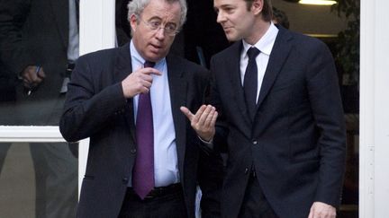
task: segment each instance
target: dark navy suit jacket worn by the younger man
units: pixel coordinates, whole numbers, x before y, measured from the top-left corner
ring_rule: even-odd
[[[211,62],[213,104],[224,121],[214,143],[227,143],[229,152],[222,217],[238,217],[252,164],[281,218],[307,217],[314,201],[339,205],[346,131],[330,51],[317,39],[278,29],[254,121],[240,81],[241,41]]]

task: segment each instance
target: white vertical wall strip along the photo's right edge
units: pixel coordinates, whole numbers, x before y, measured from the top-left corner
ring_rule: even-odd
[[[389,217],[389,2],[361,0],[359,217]]]

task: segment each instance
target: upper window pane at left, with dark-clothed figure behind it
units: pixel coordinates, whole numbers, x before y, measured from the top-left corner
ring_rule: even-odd
[[[77,2],[2,1],[0,125],[58,126],[78,57]]]

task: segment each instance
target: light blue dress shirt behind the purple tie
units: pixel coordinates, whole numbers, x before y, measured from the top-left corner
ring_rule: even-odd
[[[130,43],[132,71],[143,67],[145,59]],[[178,160],[176,155],[176,131],[170,104],[170,92],[167,81],[166,59],[158,61],[154,68],[162,75],[154,75],[150,88],[151,107],[154,126],[154,179],[155,187],[166,187],[179,181]],[[139,95],[133,98],[134,117],[138,112]],[[131,186],[131,179],[129,186]]]

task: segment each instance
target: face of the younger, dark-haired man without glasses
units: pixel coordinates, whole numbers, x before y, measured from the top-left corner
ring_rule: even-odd
[[[213,7],[218,13],[217,22],[230,41],[249,38],[256,31],[253,30],[256,17],[244,0],[214,0]]]

